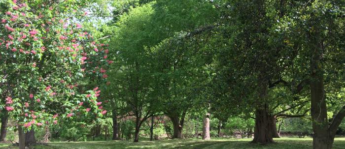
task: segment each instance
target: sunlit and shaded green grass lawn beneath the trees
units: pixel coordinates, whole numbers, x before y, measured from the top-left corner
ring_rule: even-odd
[[[99,141],[99,142],[53,142],[48,146],[33,146],[32,149],[311,149],[312,139],[280,138],[276,143],[258,145],[251,139],[162,140],[162,141]],[[0,144],[0,149],[17,149],[9,144]],[[345,149],[345,138],[336,138],[332,149]]]

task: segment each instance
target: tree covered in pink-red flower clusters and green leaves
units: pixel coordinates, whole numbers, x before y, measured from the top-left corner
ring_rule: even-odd
[[[0,88],[5,98],[0,107],[16,120],[20,149],[25,148],[28,130],[59,119],[106,113],[97,101],[98,88],[86,94],[77,88],[89,69],[88,55],[101,51],[101,45],[74,21],[86,15],[81,6],[92,2],[0,1]],[[102,67],[99,71],[106,78]]]

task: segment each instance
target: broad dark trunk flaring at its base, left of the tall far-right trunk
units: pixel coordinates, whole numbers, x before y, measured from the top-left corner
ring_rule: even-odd
[[[266,144],[273,142],[272,124],[267,109],[267,104],[262,109],[256,109],[254,139],[252,143]]]

